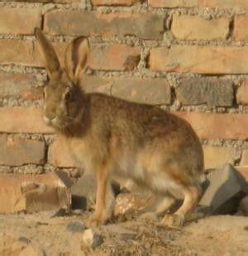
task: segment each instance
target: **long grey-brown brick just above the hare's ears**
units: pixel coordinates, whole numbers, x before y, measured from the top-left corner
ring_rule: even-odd
[[[51,11],[45,14],[45,32],[71,36],[126,36],[159,39],[165,16],[153,13]]]

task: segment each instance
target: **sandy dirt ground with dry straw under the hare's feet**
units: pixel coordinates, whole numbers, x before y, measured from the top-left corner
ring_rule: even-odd
[[[83,243],[89,213],[0,215],[0,255],[248,255],[248,218],[218,215],[184,229],[133,218],[93,227],[95,248]]]

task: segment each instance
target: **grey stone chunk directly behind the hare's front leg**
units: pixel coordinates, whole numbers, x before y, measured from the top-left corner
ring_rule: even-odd
[[[71,187],[72,208],[91,210],[94,208],[96,200],[97,184],[93,173],[85,173]],[[120,186],[116,181],[112,181],[112,190],[115,195],[119,193]]]

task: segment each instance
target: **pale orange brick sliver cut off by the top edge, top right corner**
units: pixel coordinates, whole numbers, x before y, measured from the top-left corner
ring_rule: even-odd
[[[248,9],[246,0],[148,0],[152,7],[223,7]]]

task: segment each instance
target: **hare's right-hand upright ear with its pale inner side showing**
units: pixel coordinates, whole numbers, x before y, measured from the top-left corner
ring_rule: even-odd
[[[80,36],[68,46],[65,55],[65,69],[70,80],[79,81],[80,75],[87,67],[89,56],[88,39]]]

